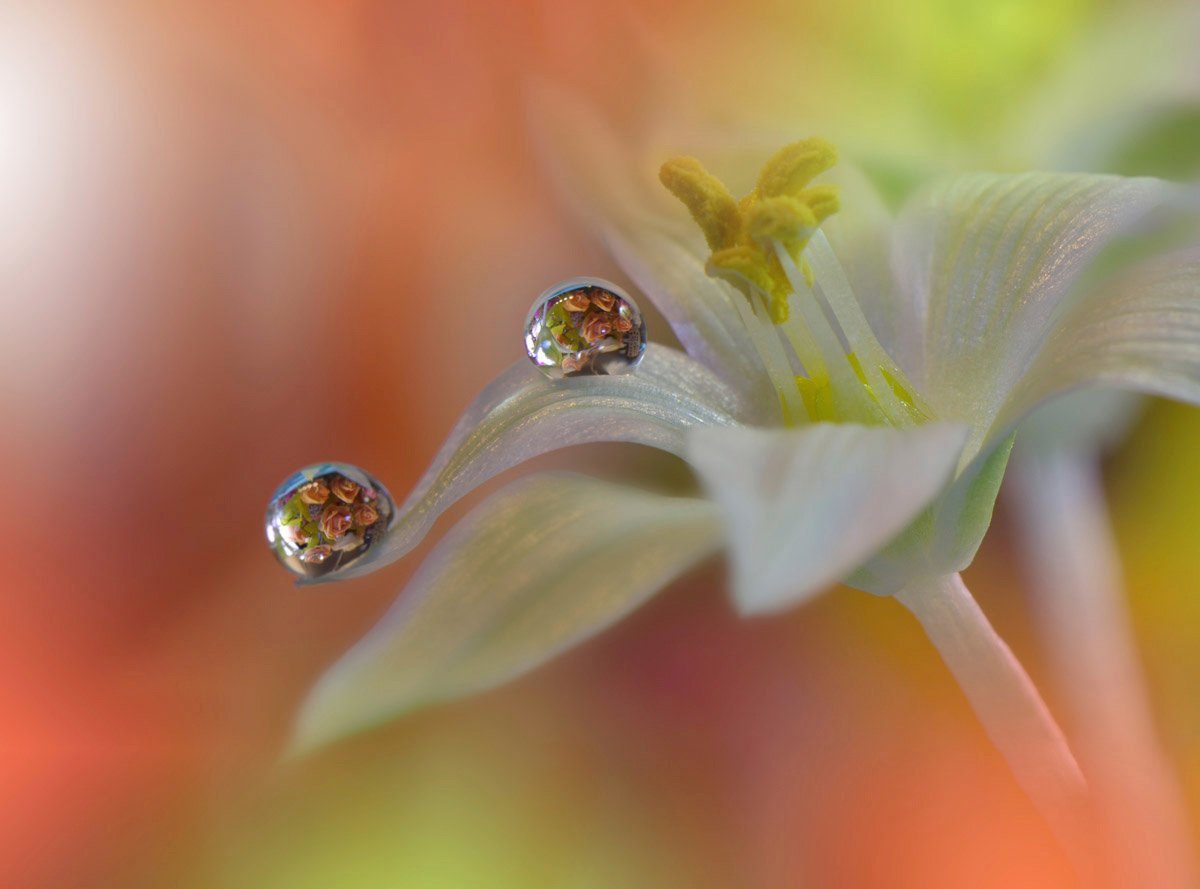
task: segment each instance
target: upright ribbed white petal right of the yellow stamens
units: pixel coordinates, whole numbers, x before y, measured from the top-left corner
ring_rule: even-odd
[[[914,382],[937,416],[972,425],[968,452],[984,446],[1087,262],[1172,194],[1153,179],[972,174],[905,210],[893,260],[920,331]]]

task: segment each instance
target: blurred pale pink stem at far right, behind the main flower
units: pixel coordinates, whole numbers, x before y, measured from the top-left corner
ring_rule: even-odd
[[[1012,505],[1034,625],[1102,818],[1115,885],[1200,885],[1146,698],[1094,453],[1026,452]]]

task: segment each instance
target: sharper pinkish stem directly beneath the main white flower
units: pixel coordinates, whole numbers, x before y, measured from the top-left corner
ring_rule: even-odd
[[[920,621],[1076,869],[1090,870],[1084,775],[1033,681],[988,623],[962,578],[955,573],[918,581],[900,590],[896,599]]]

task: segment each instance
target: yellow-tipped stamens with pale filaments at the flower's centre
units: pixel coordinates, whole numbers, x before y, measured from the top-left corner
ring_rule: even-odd
[[[659,179],[703,232],[712,250],[707,272],[745,298],[736,305],[786,425],[911,426],[928,413],[875,338],[820,230],[838,211],[838,192],[811,182],[835,162],[823,139],[787,145],[742,200],[694,157],[667,161]]]

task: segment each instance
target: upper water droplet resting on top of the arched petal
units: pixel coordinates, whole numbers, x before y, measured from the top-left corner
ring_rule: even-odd
[[[616,284],[572,278],[533,304],[526,352],[553,379],[629,373],[646,354],[646,322]]]

